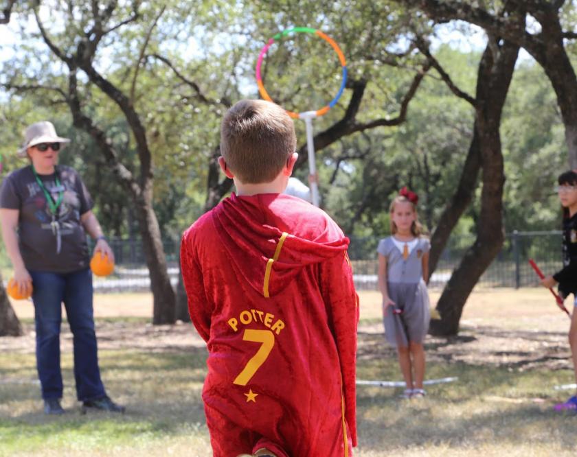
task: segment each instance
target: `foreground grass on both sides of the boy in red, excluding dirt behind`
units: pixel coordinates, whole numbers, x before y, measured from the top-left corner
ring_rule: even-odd
[[[362,338],[362,337],[361,337]],[[2,353],[0,456],[210,456],[201,389],[205,351],[102,351],[102,376],[124,415],[80,414],[72,360],[63,357],[63,417],[41,413],[33,354]],[[429,387],[422,400],[398,390],[359,386],[358,456],[573,455],[577,416],[556,414],[552,386],[569,371],[429,364],[428,377],[459,382]],[[359,379],[398,379],[392,358],[363,357]],[[25,381],[28,381],[26,384]]]

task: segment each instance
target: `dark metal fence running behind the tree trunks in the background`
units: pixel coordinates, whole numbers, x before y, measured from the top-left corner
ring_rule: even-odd
[[[453,236],[444,249],[438,266],[429,281],[430,288],[442,288],[462,256],[475,242],[474,235]],[[150,290],[150,278],[142,242],[112,239],[111,247],[116,268],[110,277],[94,279],[97,292],[142,292]],[[354,282],[358,290],[378,290],[378,260],[375,237],[352,237],[349,256],[354,268]],[[179,240],[163,242],[170,281],[176,287],[179,280]],[[535,272],[528,263],[534,259],[545,274],[561,268],[561,231],[509,233],[497,258],[479,280],[486,287],[519,288],[537,284]]]

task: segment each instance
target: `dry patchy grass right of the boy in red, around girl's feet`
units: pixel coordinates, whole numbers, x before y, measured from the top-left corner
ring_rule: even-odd
[[[399,400],[390,389],[359,386],[359,455],[574,455],[577,417],[557,414],[552,386],[565,371],[510,371],[466,364],[429,364],[428,397]],[[363,379],[398,379],[388,360],[359,364]],[[384,450],[387,452],[384,452]],[[563,453],[566,454],[563,454]]]

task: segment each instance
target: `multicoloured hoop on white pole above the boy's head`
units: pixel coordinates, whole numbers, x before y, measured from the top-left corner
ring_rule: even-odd
[[[335,43],[335,40],[332,40],[330,36],[327,36],[320,30],[311,29],[309,27],[294,27],[292,29],[284,30],[283,32],[280,32],[275,36],[273,36],[273,38],[271,38],[269,42],[266,45],[264,45],[264,47],[262,47],[262,49],[260,50],[260,54],[258,55],[258,60],[256,62],[256,84],[258,85],[258,91],[260,92],[260,96],[263,99],[268,100],[269,102],[274,102],[273,99],[271,99],[271,97],[267,93],[267,90],[264,89],[264,84],[262,84],[262,78],[260,76],[260,67],[262,66],[262,60],[264,59],[264,56],[267,54],[269,47],[271,47],[271,45],[275,42],[275,40],[280,40],[280,38],[282,38],[283,36],[286,36],[291,33],[314,34],[326,40],[332,46],[332,49],[335,50],[337,56],[339,56],[339,61],[341,62],[343,72],[339,92],[337,93],[335,98],[333,98],[327,105],[323,106],[318,110],[304,111],[303,113],[294,113],[293,111],[286,110],[286,113],[288,113],[288,115],[291,116],[293,119],[304,120],[306,126],[306,147],[308,151],[308,173],[310,175],[315,176],[317,173],[317,167],[315,163],[315,143],[313,141],[313,118],[326,114],[328,110],[330,110],[330,108],[332,108],[333,106],[335,106],[335,104],[337,104],[339,98],[341,97],[341,95],[343,95],[343,91],[345,89],[345,85],[347,82],[347,62],[343,54],[343,51],[341,51],[339,45]],[[310,183],[310,194],[313,200],[313,204],[318,207],[319,188],[315,180],[313,180],[313,182]]]

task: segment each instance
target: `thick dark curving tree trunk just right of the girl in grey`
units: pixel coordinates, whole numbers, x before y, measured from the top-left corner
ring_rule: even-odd
[[[479,63],[477,78],[475,130],[483,169],[477,239],[465,253],[439,298],[437,310],[441,318],[431,320],[429,331],[433,335],[451,336],[458,333],[469,294],[503,245],[505,175],[499,126],[519,46],[509,42],[499,46],[497,43],[498,39],[487,45]]]

